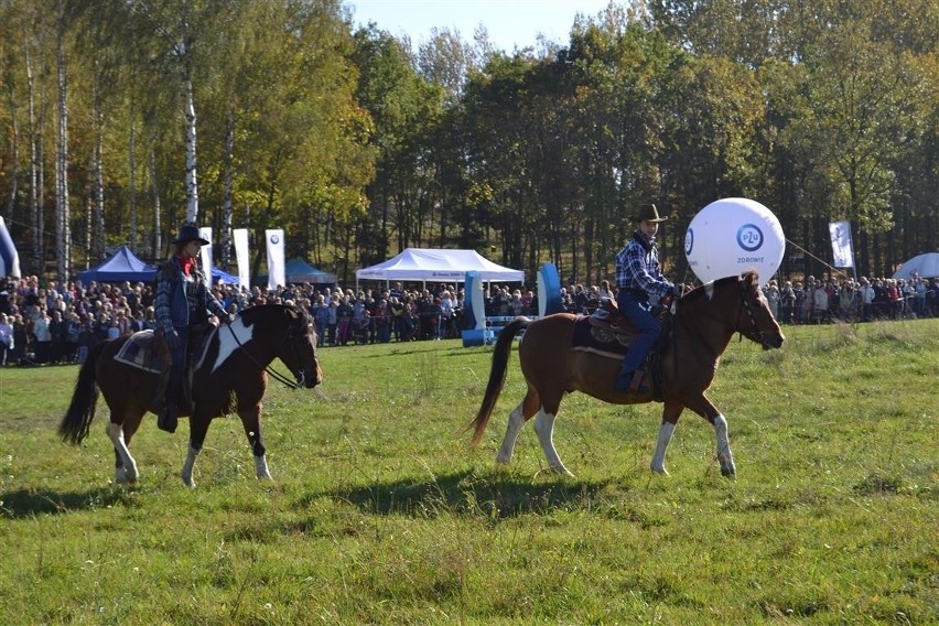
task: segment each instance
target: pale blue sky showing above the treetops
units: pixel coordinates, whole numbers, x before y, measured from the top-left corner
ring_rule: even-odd
[[[535,46],[539,33],[565,45],[574,15],[596,15],[609,0],[346,0],[355,24],[375,22],[392,35],[408,34],[414,45],[428,40],[432,28],[460,32],[473,41],[481,23],[496,48],[511,53]]]

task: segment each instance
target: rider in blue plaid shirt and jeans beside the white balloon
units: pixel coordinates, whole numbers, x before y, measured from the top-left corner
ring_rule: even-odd
[[[640,206],[636,214],[636,231],[616,255],[616,304],[638,331],[629,352],[623,358],[616,378],[617,391],[633,395],[648,392],[648,388],[641,386],[643,366],[661,333],[650,310],[661,298],[681,294],[680,289],[666,280],[659,269],[656,234],[659,223],[666,219],[668,217],[659,217],[656,205]]]

